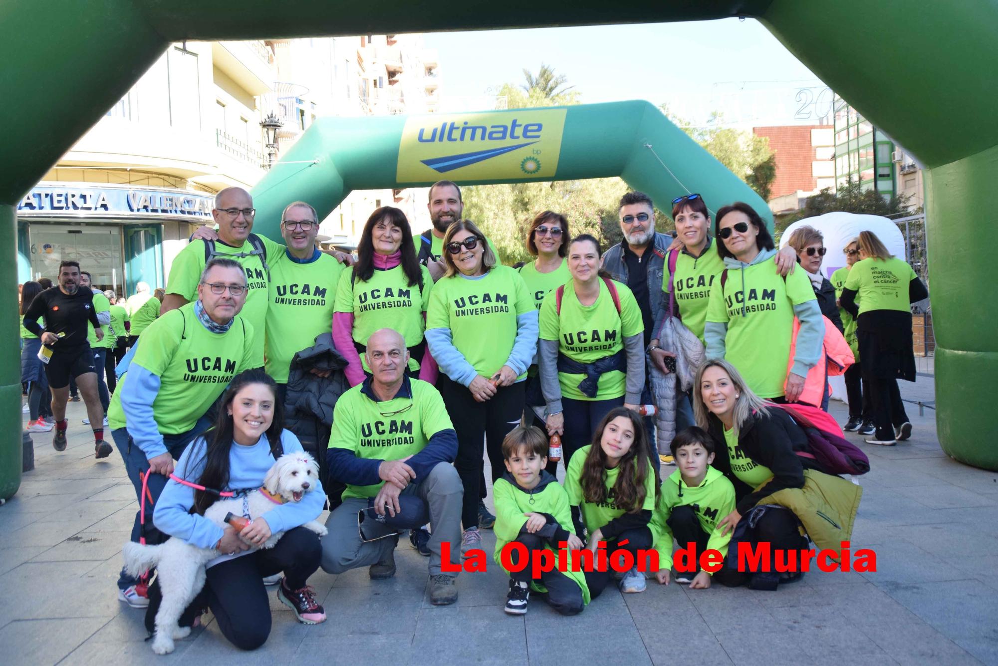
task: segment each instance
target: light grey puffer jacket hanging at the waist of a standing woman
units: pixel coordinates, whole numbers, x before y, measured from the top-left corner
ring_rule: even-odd
[[[659,346],[676,354],[676,373],[664,374],[648,354],[648,379],[655,401],[656,441],[660,454],[669,454],[669,445],[676,437],[676,395],[689,391],[697,377],[697,368],[704,360],[706,350],[693,331],[678,317],[668,317],[659,331]]]

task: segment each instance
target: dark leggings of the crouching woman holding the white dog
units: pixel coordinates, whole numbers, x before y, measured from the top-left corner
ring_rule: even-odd
[[[208,605],[222,635],[241,650],[255,650],[270,635],[270,603],[263,576],[284,572],[287,587],[300,589],[318,569],[322,546],[318,534],[295,527],[277,544],[216,564],[207,571]]]

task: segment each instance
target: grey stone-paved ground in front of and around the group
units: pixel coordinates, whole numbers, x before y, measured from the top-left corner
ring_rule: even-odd
[[[918,380],[902,382],[902,395],[931,400],[931,377]],[[845,408],[833,402],[832,413],[841,418]],[[861,445],[873,469],[860,480],[852,547],[876,550],[875,573],[811,572],[777,592],[650,580],[641,594],[608,589],[575,617],[540,600],[513,617],[502,610],[505,576],[494,564],[459,577],[456,605],[431,606],[426,559],[402,539],[390,580],[371,581],[362,569],[312,576],[324,624],[298,624],[272,599],[261,649],[238,654],[207,615],[207,626],[157,657],[143,640],[143,611],[117,599],[132,487],[117,452],[94,460],[82,404],[71,403],[69,448],[56,453],[50,434],[36,435],[36,470],[0,506],[0,661],[998,664],[998,475],[947,458],[933,411],[909,414],[908,443]],[[485,530],[486,551],[493,546]]]

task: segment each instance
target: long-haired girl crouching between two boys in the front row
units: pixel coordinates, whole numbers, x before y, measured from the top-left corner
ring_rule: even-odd
[[[608,556],[618,547],[630,550],[635,566],[621,579],[621,591],[645,591],[638,551],[650,550],[656,540],[649,523],[659,493],[659,471],[651,465],[648,437],[637,412],[616,407],[607,413],[593,444],[580,449],[569,462],[565,490],[569,502],[582,508],[589,532],[586,547],[595,554],[599,542],[606,541]],[[625,545],[618,546],[625,540]],[[610,568],[586,572],[592,597],[600,595],[610,575]]]

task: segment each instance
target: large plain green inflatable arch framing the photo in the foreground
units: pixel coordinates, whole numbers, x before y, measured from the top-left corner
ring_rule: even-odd
[[[991,416],[998,336],[990,308],[998,281],[991,270],[990,243],[982,242],[978,231],[998,210],[998,79],[976,67],[998,62],[995,2],[930,2],[913,10],[906,0],[623,0],[612,6],[604,0],[579,0],[566,10],[562,3],[534,0],[442,0],[431,8],[407,0],[382,0],[376,7],[344,0],[282,0],[279,6],[271,0],[6,0],[0,3],[0,91],[6,102],[0,105],[5,131],[0,143],[0,247],[7,248],[7,260],[0,261],[0,279],[10,290],[0,301],[8,313],[0,317],[2,339],[17,339],[17,201],[128,92],[170,42],[734,16],[758,18],[804,65],[928,167],[939,441],[957,460],[998,470],[998,428]],[[566,132],[573,125],[567,121]],[[590,147],[598,145],[599,137],[595,140],[587,138]],[[658,153],[655,142],[649,143]],[[566,156],[572,150],[563,148]],[[676,161],[659,155],[674,168]],[[341,178],[345,174],[340,169],[347,164],[339,164],[337,156],[329,172]],[[330,166],[331,160],[319,160],[315,172]],[[625,175],[635,186],[648,186],[627,165],[609,172]],[[271,174],[265,184],[271,190],[275,177]],[[307,184],[310,174],[297,175],[295,183],[301,177],[302,191],[315,186]],[[344,187],[356,176],[346,177]],[[261,182],[259,198],[275,207],[276,191],[271,194],[263,186]],[[331,187],[329,182],[326,186]],[[670,190],[668,184],[660,187],[649,189],[657,195]],[[705,194],[714,191],[702,189]],[[326,197],[328,205],[334,196]],[[19,396],[18,359],[7,353],[0,358],[0,432],[5,433],[0,439],[0,499],[13,496],[20,485]]]

